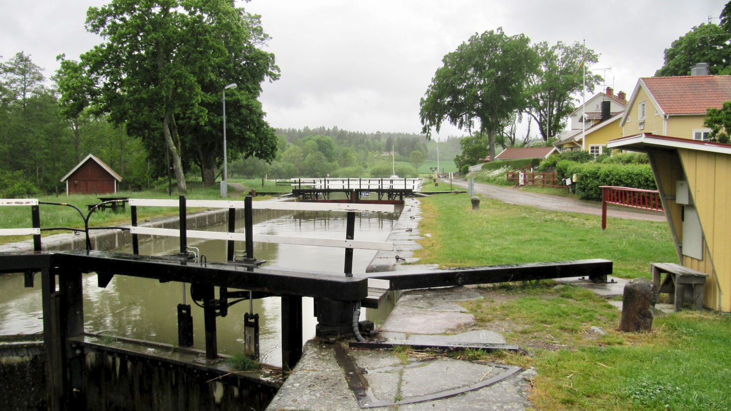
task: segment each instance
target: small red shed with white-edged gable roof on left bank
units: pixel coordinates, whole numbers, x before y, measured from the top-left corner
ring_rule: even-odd
[[[66,194],[106,194],[117,192],[122,178],[105,165],[104,162],[89,154],[73,170],[61,178],[66,181]]]

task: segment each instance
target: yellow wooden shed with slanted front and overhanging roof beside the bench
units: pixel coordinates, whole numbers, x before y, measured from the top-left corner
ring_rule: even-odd
[[[708,274],[705,306],[731,312],[731,144],[643,133],[608,147],[648,154],[681,264]]]

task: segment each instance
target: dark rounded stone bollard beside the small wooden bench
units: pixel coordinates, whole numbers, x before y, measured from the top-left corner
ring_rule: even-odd
[[[624,286],[620,331],[651,331],[657,288],[648,279],[633,279]],[[651,308],[652,307],[652,308]]]

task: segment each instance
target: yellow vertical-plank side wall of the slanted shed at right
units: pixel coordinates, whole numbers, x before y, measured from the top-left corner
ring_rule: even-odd
[[[703,230],[703,260],[683,256],[683,265],[709,274],[703,303],[731,312],[731,155],[678,148]],[[682,238],[682,237],[681,237]],[[715,268],[715,274],[714,274]],[[717,275],[718,278],[714,275]]]

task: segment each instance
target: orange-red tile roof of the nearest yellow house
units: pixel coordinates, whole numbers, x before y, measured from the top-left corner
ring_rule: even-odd
[[[731,75],[643,77],[665,114],[705,114],[731,100]]]

